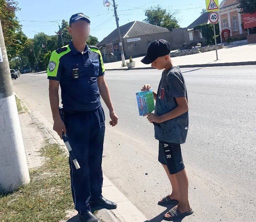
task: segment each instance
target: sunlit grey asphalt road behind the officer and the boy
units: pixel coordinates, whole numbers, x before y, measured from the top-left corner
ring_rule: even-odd
[[[194,210],[182,221],[256,221],[256,67],[183,68],[182,72],[190,118],[182,152]],[[151,222],[162,220],[167,209],[156,204],[171,188],[157,159],[153,124],[138,115],[135,92],[144,84],[157,90],[160,76],[157,70],[105,75],[119,123],[106,127],[103,171]],[[46,73],[22,74],[13,83],[32,111],[52,121]],[[105,113],[108,123],[106,107]]]

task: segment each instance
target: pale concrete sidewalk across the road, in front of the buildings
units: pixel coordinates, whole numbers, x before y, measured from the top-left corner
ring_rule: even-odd
[[[234,66],[234,65],[256,65],[256,43],[225,46],[218,50],[219,60],[216,61],[216,52],[209,51],[194,55],[173,57],[175,65],[185,67],[204,67],[204,66]],[[151,68],[140,60],[143,57],[133,59],[136,62],[135,69]],[[128,60],[127,60],[128,61]],[[122,62],[105,63],[106,70],[127,70],[122,67]]]

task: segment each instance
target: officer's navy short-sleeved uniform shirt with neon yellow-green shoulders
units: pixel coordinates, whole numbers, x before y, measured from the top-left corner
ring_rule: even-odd
[[[79,69],[79,77],[74,79],[73,70]],[[66,112],[91,111],[100,105],[97,77],[103,76],[100,50],[86,44],[82,54],[69,45],[52,52],[47,75],[48,79],[60,82],[63,109]]]

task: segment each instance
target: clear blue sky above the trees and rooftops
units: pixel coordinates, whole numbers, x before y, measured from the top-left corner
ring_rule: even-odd
[[[206,7],[204,0],[116,0],[116,5],[119,26],[135,20],[143,21],[145,10],[159,5],[168,12],[176,12],[175,17],[182,28],[196,20]],[[113,7],[104,7],[103,0],[18,0],[18,7],[21,10],[16,12],[16,16],[28,38],[33,38],[38,32],[54,35],[59,29],[56,22],[69,21],[70,16],[78,12],[90,17],[91,35],[99,41],[116,28]]]

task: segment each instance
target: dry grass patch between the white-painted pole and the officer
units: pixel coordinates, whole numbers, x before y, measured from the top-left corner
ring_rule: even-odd
[[[58,144],[48,144],[41,155],[46,162],[30,170],[29,184],[0,195],[0,222],[58,222],[74,209],[66,154]]]

